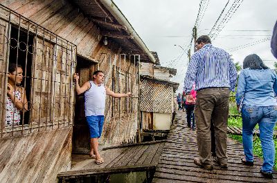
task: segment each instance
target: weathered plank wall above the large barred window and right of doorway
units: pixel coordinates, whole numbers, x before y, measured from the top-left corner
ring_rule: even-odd
[[[112,41],[109,41],[109,44],[104,46],[100,29],[92,21],[89,21],[77,7],[73,7],[66,0],[0,0],[0,3],[77,45],[78,55],[98,62],[97,67],[105,72],[105,83],[109,88],[112,86],[113,65],[120,67],[120,70],[132,73],[130,77],[133,84],[132,93],[134,97],[138,97],[139,90],[136,83],[138,67],[134,66],[132,57],[127,55],[123,59],[124,56],[120,55],[122,53],[120,45]],[[15,19],[15,17],[12,18]],[[131,61],[129,61],[130,59]],[[125,76],[121,75],[121,86],[124,86],[124,79]],[[117,92],[126,91],[122,87]],[[120,113],[115,111],[116,113],[111,115],[112,99],[107,97],[105,125],[100,139],[101,144],[119,144],[121,142],[134,141],[138,128],[138,108],[136,107],[138,106],[138,99],[132,99],[132,101],[132,112],[123,113],[120,110]],[[118,106],[120,103],[122,104],[120,106],[123,106],[124,102],[126,102],[125,99],[116,99],[114,104]]]

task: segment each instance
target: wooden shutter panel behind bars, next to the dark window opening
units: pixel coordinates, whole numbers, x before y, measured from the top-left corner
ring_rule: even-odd
[[[45,123],[51,121],[53,114],[52,75],[54,45],[35,38],[35,57],[32,70],[31,122]]]

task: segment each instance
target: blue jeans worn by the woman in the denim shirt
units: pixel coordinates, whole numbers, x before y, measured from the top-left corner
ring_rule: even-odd
[[[274,167],[274,126],[277,120],[277,106],[242,106],[242,144],[246,160],[253,162],[253,130],[260,129],[263,164],[262,171],[272,173]]]

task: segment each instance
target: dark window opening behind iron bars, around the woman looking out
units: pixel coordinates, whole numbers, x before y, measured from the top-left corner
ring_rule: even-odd
[[[11,27],[9,64],[14,63],[21,66],[24,75],[23,81],[21,81],[21,86],[26,90],[26,97],[28,102],[30,102],[31,90],[33,39],[34,36],[24,32],[24,30],[19,30],[14,26]],[[28,51],[27,48],[29,49]],[[29,119],[29,110],[24,113],[24,115],[21,113],[20,124],[28,124]]]

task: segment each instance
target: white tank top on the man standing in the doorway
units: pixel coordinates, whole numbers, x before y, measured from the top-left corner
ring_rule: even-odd
[[[86,116],[104,115],[106,89],[104,85],[97,86],[89,81],[91,88],[84,93],[84,113]]]

